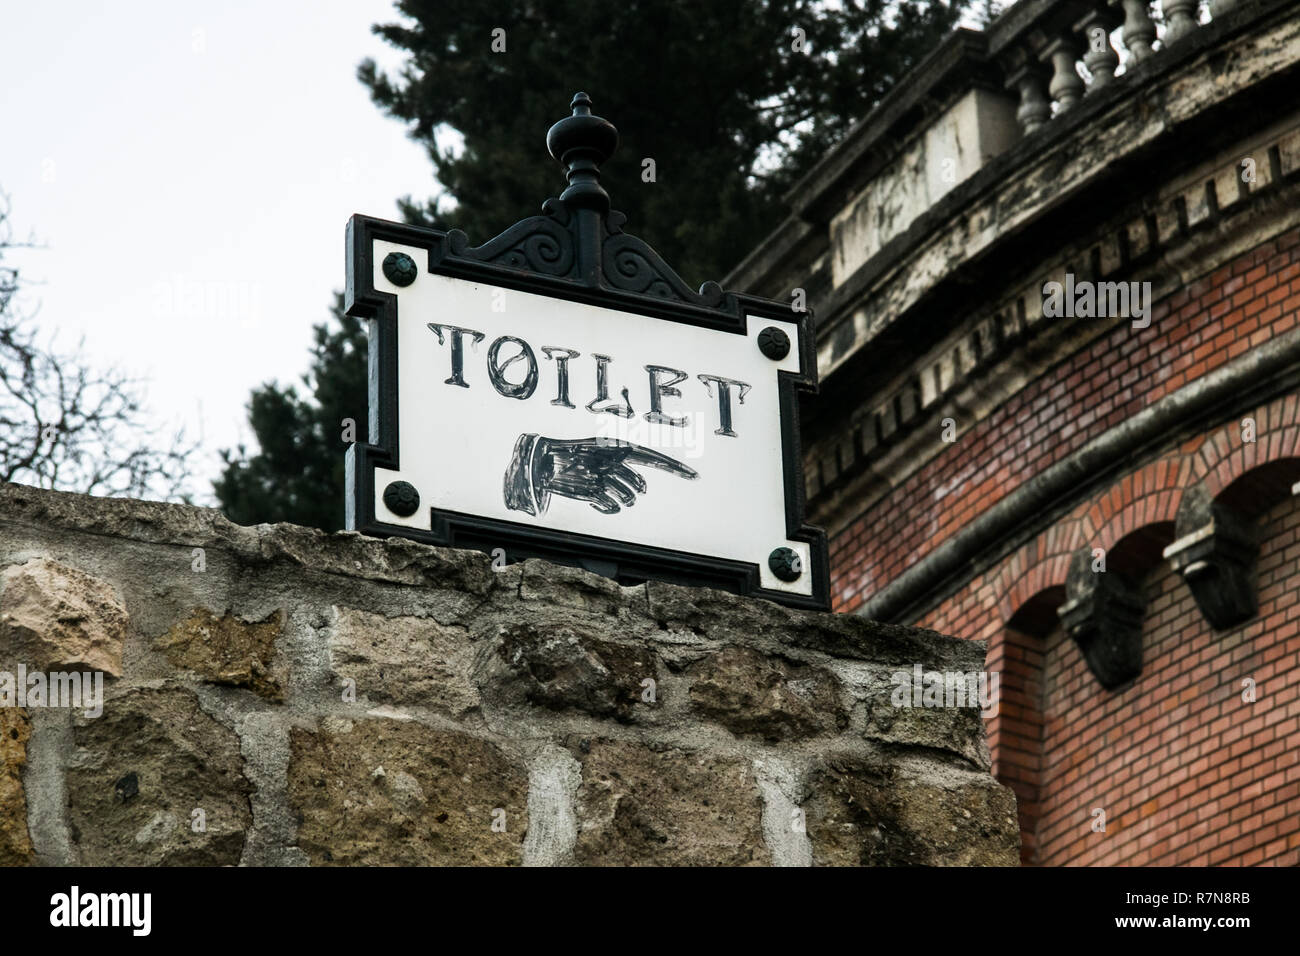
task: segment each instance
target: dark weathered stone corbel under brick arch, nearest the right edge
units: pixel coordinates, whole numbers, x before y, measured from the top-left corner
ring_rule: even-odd
[[[1178,540],[1165,557],[1187,581],[1210,627],[1222,631],[1253,618],[1260,545],[1252,522],[1196,485],[1184,493],[1174,527]]]

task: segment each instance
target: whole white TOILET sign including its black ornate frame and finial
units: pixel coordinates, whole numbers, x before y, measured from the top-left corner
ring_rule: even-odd
[[[352,217],[370,436],[347,527],[826,607],[824,535],[802,524],[809,316],[692,291],[623,233],[595,172],[611,133],[580,94],[547,137],[569,189],[484,246]]]

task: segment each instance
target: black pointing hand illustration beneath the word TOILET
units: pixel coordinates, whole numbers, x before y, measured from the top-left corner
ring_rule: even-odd
[[[699,477],[677,459],[628,441],[521,434],[506,470],[506,507],[541,515],[551,496],[558,494],[589,502],[601,514],[618,514],[646,492],[646,481],[632,470],[633,464],[688,480]]]

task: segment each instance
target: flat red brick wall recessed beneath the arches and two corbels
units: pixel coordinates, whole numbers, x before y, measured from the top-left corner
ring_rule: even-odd
[[[1261,529],[1260,614],[1240,627],[1212,631],[1167,563],[1148,575],[1143,671],[1121,693],[1060,627],[1041,643],[1037,862],[1300,862],[1300,501]]]

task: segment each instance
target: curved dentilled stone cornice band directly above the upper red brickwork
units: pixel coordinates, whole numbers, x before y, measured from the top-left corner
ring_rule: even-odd
[[[901,384],[874,395],[859,389],[858,403],[844,405],[837,419],[816,420],[816,428],[806,431],[812,519],[836,533],[852,518],[837,514],[837,502],[852,502],[855,515],[876,497],[859,476],[874,473],[868,480],[876,493],[887,492],[937,454],[941,446],[932,438],[940,418],[957,414],[965,431],[985,408],[1018,390],[1035,368],[1106,334],[1108,323],[1044,320],[1045,281],[1066,272],[1102,281],[1144,280],[1158,300],[1247,246],[1300,222],[1300,126],[1248,152],[1258,156],[1252,191],[1235,189],[1240,182],[1235,157],[1171,183],[1161,198],[1121,211],[1091,235],[1079,237],[1058,259],[1035,261],[1030,278],[1010,294],[989,297],[965,312],[966,324],[941,339],[928,360],[911,365]],[[837,385],[828,382],[811,418],[842,402]],[[924,449],[909,444],[909,434],[920,429],[928,429]]]

